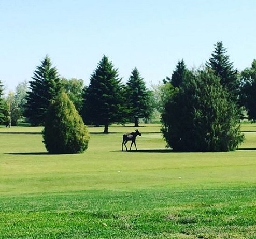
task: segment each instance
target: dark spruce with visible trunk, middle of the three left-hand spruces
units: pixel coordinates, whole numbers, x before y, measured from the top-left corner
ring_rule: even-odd
[[[123,85],[107,56],[103,56],[94,70],[90,84],[84,89],[82,117],[86,124],[104,125],[108,133],[111,123],[124,121]]]

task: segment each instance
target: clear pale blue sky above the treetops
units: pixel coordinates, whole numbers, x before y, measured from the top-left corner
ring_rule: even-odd
[[[256,58],[255,0],[0,0],[0,79],[8,90],[48,54],[59,74],[89,84],[107,55],[127,81],[150,86],[179,59],[198,67],[222,41],[234,67]]]

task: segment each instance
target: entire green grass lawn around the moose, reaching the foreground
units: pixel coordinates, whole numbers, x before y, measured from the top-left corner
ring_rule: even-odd
[[[0,238],[256,238],[255,124],[223,153],[166,150],[157,124],[131,152],[134,127],[88,129],[84,154],[48,155],[42,128],[0,127]]]

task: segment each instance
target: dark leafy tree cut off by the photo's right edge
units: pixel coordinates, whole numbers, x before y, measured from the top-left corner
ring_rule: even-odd
[[[256,59],[250,68],[244,69],[241,74],[241,102],[245,106],[249,119],[256,120]]]

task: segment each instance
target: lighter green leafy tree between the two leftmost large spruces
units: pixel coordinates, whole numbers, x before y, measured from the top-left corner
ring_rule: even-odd
[[[61,84],[68,94],[69,99],[74,103],[79,112],[83,103],[83,80],[76,78],[61,78]]]

